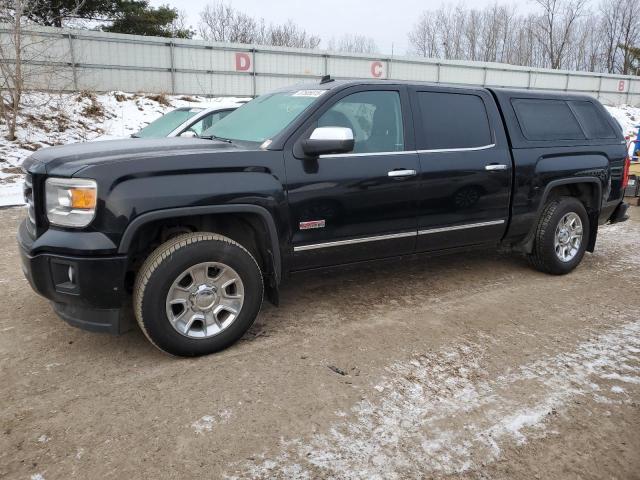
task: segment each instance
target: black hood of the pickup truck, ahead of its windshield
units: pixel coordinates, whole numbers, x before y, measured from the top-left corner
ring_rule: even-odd
[[[27,171],[42,170],[48,174],[71,176],[90,165],[135,160],[155,156],[171,156],[188,153],[219,152],[237,150],[236,145],[195,138],[128,138],[86,143],[73,143],[43,148],[27,158],[23,168]]]

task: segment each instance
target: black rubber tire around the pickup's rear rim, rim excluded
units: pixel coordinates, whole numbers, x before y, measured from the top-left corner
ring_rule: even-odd
[[[554,246],[556,228],[560,220],[571,212],[577,214],[582,221],[582,241],[575,256],[569,261],[562,261],[556,254]],[[528,255],[529,263],[536,270],[552,275],[569,273],[582,261],[589,243],[589,233],[589,216],[582,202],[573,197],[549,200],[544,206],[536,228],[533,250]]]

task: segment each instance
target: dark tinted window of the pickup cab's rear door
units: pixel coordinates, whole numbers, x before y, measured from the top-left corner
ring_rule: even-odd
[[[416,142],[420,150],[451,150],[493,144],[489,117],[478,95],[416,92],[420,109]]]

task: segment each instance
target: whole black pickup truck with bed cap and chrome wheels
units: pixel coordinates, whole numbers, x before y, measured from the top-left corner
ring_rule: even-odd
[[[72,325],[215,352],[290,274],[502,246],[565,274],[627,219],[596,100],[393,81],[290,87],[200,139],[47,148],[24,163],[22,265]]]

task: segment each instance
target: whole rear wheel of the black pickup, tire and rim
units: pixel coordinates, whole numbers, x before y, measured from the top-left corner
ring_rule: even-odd
[[[589,217],[582,202],[572,197],[550,200],[535,233],[531,265],[542,272],[564,275],[584,257],[589,243]]]

